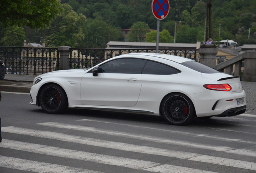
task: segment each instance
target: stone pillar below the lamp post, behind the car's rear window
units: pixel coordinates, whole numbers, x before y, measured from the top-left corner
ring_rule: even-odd
[[[211,68],[216,66],[218,48],[215,44],[201,44],[199,48],[200,63]]]

